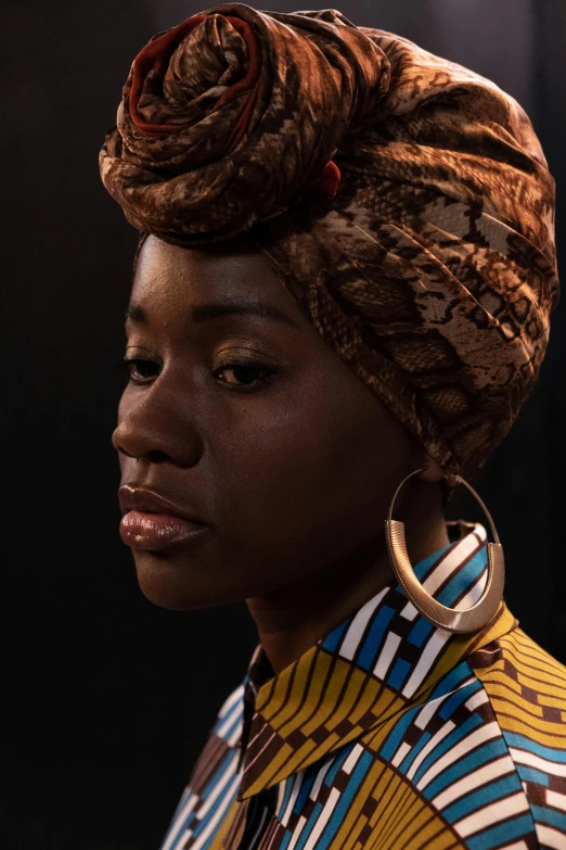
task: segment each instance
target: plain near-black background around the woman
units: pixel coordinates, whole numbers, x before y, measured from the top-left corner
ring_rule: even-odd
[[[255,646],[243,605],[179,614],[141,595],[118,537],[111,445],[136,231],[102,187],[98,153],[136,53],[203,8],[180,0],[3,4],[7,850],[156,850]],[[338,8],[357,24],[469,66],[523,104],[557,182],[564,257],[566,4],[365,0]],[[507,605],[563,662],[565,322],[563,299],[538,389],[476,482],[505,547]],[[481,519],[460,498],[451,512]]]

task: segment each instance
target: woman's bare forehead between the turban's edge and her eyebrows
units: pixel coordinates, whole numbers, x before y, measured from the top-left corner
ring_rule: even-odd
[[[140,250],[131,293],[137,304],[169,303],[184,312],[197,304],[244,297],[298,312],[268,261],[245,236],[206,249],[184,249],[150,236]]]

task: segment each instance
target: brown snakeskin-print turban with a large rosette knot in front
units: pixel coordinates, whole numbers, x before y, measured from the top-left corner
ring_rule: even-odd
[[[136,56],[100,154],[142,234],[249,231],[334,351],[475,475],[537,379],[554,180],[490,80],[336,10],[222,3]]]

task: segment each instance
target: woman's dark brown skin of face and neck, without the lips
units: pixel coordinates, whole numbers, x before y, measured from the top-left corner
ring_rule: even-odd
[[[193,315],[234,302],[283,318]],[[121,483],[207,524],[186,548],[132,548],[153,602],[245,599],[279,673],[395,581],[384,520],[409,472],[426,468],[395,511],[413,563],[449,542],[440,468],[324,343],[245,234],[191,250],[149,237],[131,306],[126,356],[136,363],[113,434]]]

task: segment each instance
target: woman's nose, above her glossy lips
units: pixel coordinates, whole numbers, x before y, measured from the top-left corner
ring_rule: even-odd
[[[194,466],[202,455],[203,440],[186,407],[165,381],[143,392],[126,391],[112,434],[114,448],[138,459]]]

